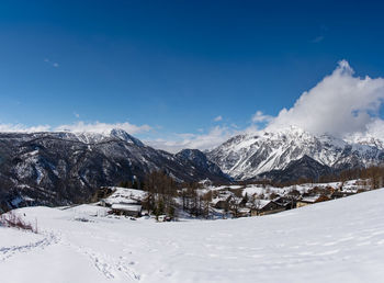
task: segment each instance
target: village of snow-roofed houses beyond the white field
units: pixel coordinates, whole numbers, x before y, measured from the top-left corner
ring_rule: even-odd
[[[101,188],[97,205],[105,207],[109,216],[132,219],[143,216],[157,222],[180,218],[219,219],[263,216],[371,190],[369,180],[305,183],[285,188],[262,184],[215,186],[210,182],[202,182],[201,185],[193,200],[185,197],[188,189],[181,189],[172,197],[174,211],[171,214],[156,214],[148,210],[146,191],[120,186]]]

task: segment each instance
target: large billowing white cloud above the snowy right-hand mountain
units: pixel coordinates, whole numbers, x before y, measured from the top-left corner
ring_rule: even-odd
[[[384,79],[359,78],[348,61],[304,92],[293,107],[280,111],[268,128],[296,125],[314,134],[345,136],[365,132],[377,120],[384,99]]]

